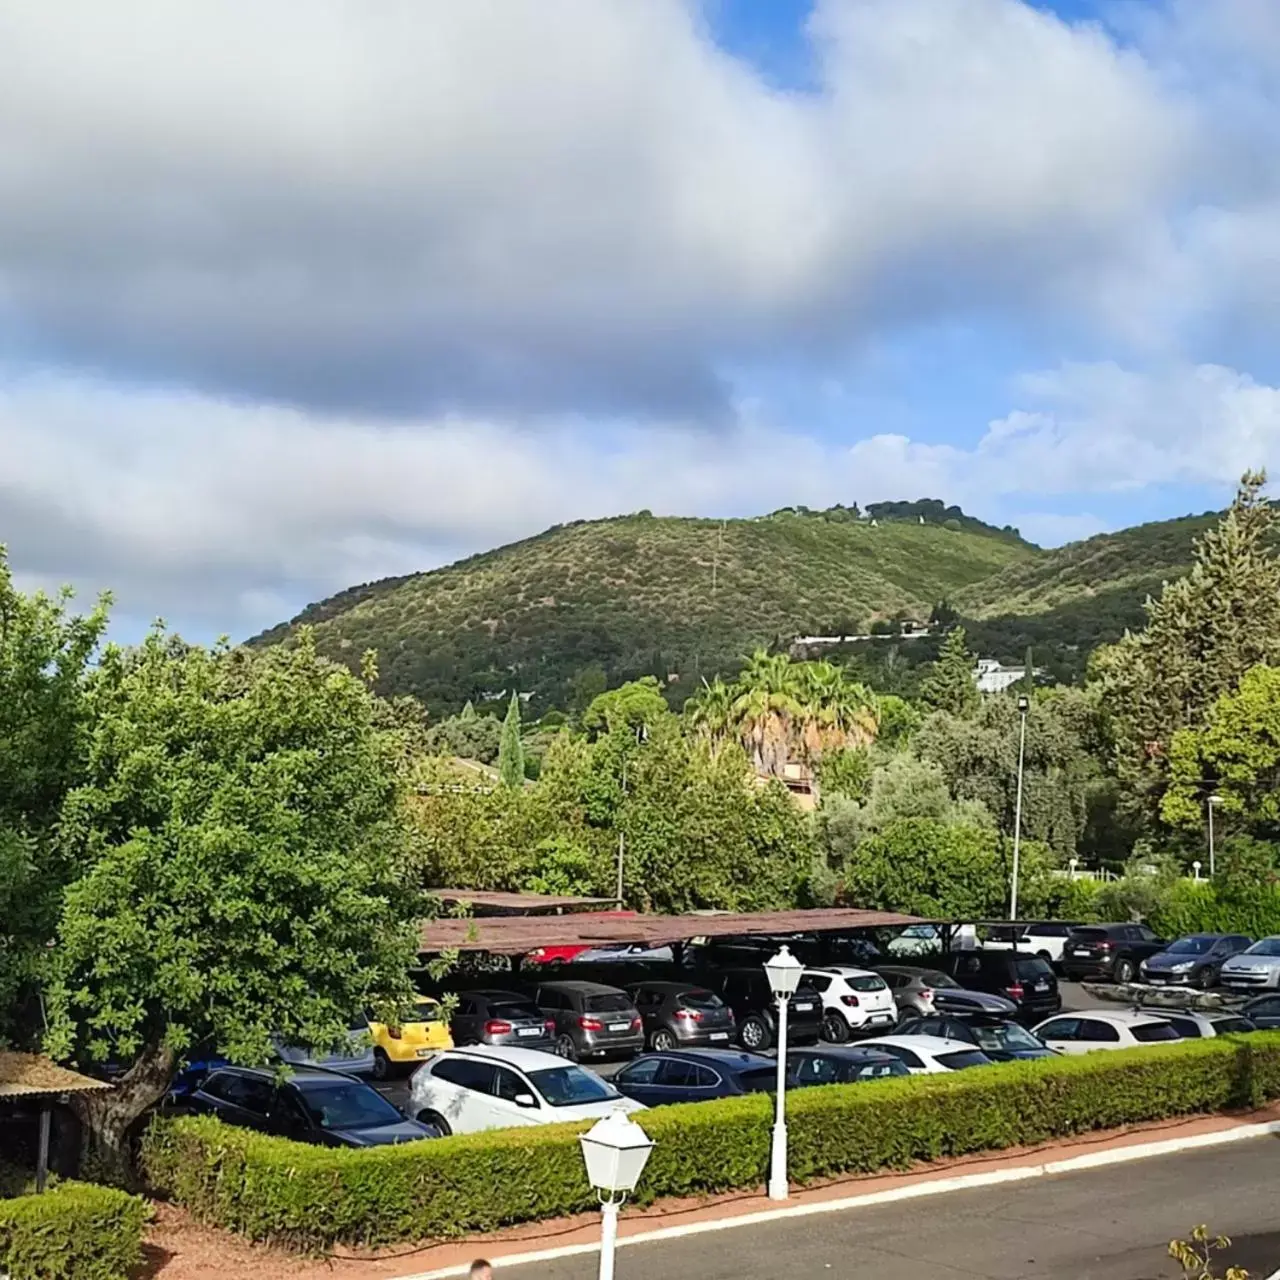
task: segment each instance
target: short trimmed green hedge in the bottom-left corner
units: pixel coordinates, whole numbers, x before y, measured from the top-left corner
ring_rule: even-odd
[[[127,1280],[142,1261],[148,1213],[137,1196],[88,1183],[0,1199],[0,1272],[13,1280]]]

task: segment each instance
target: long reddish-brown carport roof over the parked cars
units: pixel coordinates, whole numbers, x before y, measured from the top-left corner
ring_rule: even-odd
[[[850,906],[804,911],[755,911],[718,915],[632,915],[585,911],[561,916],[485,916],[470,920],[425,920],[421,948],[433,951],[489,951],[525,955],[535,947],[639,942],[664,946],[698,937],[754,934],[842,933],[925,924],[899,911],[861,911]]]

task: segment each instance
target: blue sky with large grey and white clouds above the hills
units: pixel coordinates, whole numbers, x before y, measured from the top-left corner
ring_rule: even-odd
[[[246,637],[559,521],[1280,467],[1276,0],[0,0],[0,543]]]

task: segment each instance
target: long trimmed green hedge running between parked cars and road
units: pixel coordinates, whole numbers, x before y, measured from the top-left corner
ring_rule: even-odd
[[[952,1075],[787,1094],[796,1181],[1108,1129],[1280,1097],[1280,1033],[1193,1041]],[[758,1187],[767,1094],[646,1111],[657,1143],[639,1199]],[[361,1151],[307,1147],[207,1117],[157,1120],[155,1188],[207,1222],[302,1248],[492,1230],[595,1206],[577,1135],[548,1125]]]

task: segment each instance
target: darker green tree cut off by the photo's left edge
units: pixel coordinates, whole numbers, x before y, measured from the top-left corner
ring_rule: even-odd
[[[69,874],[55,832],[83,777],[86,672],[106,625],[105,599],[87,616],[69,599],[18,591],[0,547],[0,1041],[18,1032]]]

